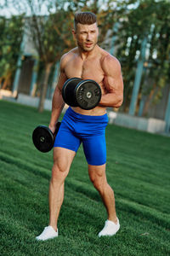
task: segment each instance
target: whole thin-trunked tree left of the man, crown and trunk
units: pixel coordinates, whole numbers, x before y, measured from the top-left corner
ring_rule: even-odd
[[[41,0],[38,1],[40,4]],[[48,90],[48,78],[54,63],[59,60],[62,50],[71,46],[65,34],[65,12],[60,9],[51,13],[52,3],[49,2],[48,15],[37,15],[34,3],[27,0],[31,10],[31,16],[27,18],[27,24],[31,29],[31,38],[34,42],[39,61],[44,66],[44,77],[39,102],[39,111],[42,112],[45,97]]]

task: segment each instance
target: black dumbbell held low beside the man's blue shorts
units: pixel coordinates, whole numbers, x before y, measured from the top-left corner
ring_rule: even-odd
[[[57,123],[54,133],[45,125],[38,125],[32,132],[32,141],[39,151],[46,153],[54,147],[54,140],[60,124],[61,122]]]

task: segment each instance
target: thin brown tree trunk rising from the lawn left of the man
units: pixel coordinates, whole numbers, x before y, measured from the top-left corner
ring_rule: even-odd
[[[45,65],[45,75],[44,75],[44,80],[43,80],[42,90],[41,90],[41,95],[40,95],[40,101],[39,101],[39,106],[38,106],[39,112],[42,112],[43,108],[44,108],[44,102],[45,102],[45,98],[46,98],[47,90],[48,90],[48,78],[49,78],[49,74],[50,74],[52,65],[53,65],[53,63],[48,63]]]

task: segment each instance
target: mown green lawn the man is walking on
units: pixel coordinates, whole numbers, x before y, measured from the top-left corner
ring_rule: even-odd
[[[82,147],[65,181],[59,237],[36,241],[48,224],[52,152],[31,142],[50,113],[0,101],[1,255],[170,255],[170,137],[108,125],[107,178],[121,230],[98,238],[105,207],[88,178]]]

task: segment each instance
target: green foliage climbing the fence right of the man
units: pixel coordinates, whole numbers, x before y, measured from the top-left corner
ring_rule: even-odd
[[[126,6],[133,3],[132,9]],[[121,6],[121,5],[120,5]],[[146,63],[147,76],[143,80],[142,91],[153,94],[153,102],[161,99],[161,90],[167,85],[170,78],[170,3],[167,1],[123,1],[119,15],[123,17],[119,37],[116,42],[120,45],[117,56],[122,61],[124,75],[125,104],[130,102],[133,89],[134,74],[144,36],[148,38]],[[130,42],[130,43],[129,43]],[[151,86],[148,81],[151,81]],[[156,86],[155,86],[156,84]],[[124,109],[127,108],[124,106]]]

